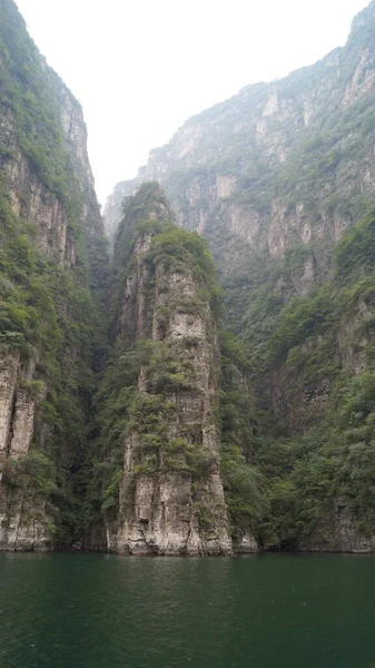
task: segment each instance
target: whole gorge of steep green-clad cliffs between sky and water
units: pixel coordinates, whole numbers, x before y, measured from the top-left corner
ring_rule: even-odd
[[[103,220],[78,101],[0,16],[0,550],[374,552],[375,1]]]

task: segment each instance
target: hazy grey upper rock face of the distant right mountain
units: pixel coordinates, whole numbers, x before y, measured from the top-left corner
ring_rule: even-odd
[[[346,47],[190,118],[139,170],[138,183],[162,185],[179,225],[209,238],[224,273],[254,253],[273,259],[296,244],[332,245],[361,198],[374,199],[374,26],[371,2]],[[111,227],[126,184],[109,200]],[[316,249],[305,286],[324,264]]]

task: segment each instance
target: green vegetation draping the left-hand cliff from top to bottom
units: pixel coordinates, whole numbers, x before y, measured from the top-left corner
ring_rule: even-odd
[[[37,403],[29,452],[2,463],[2,499],[11,509],[12,495],[22,493],[30,517],[34,509],[63,546],[81,531],[75,475],[87,450],[92,366],[105,341],[106,243],[95,193],[78,174],[63,135],[61,90],[70,94],[43,62],[12,0],[0,0],[0,357],[20,354],[18,389]],[[71,104],[79,109],[73,98]],[[11,206],[8,170],[18,155],[29,169],[26,190],[16,190],[20,215]],[[40,229],[30,222],[34,178],[45,188],[46,207],[59,206],[66,217],[72,268],[38,247]],[[83,205],[92,208],[87,226]],[[52,229],[55,244],[58,234]],[[29,369],[34,372],[24,380]]]

